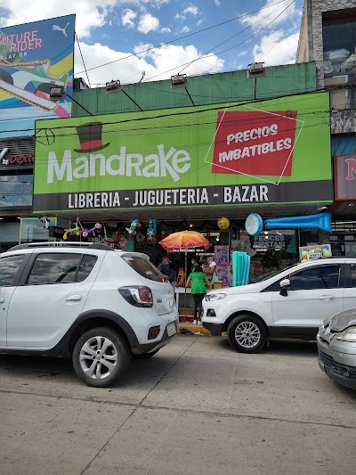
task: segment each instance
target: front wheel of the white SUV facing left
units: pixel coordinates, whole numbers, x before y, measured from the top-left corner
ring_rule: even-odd
[[[229,324],[228,340],[241,353],[258,353],[266,343],[267,331],[258,316],[239,315]]]

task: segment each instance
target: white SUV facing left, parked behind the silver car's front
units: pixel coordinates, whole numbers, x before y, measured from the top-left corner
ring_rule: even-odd
[[[203,326],[227,332],[232,348],[257,353],[270,338],[316,340],[327,317],[356,307],[356,259],[330,258],[297,264],[241,287],[210,291]]]

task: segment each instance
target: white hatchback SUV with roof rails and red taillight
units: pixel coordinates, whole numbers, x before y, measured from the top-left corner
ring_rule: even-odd
[[[177,332],[174,289],[138,252],[20,244],[0,255],[0,353],[72,356],[90,386],[117,380]]]

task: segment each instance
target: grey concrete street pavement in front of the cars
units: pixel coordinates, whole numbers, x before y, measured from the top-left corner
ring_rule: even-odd
[[[109,389],[67,359],[0,356],[0,424],[1,475],[356,473],[356,391],[315,343],[179,335]]]

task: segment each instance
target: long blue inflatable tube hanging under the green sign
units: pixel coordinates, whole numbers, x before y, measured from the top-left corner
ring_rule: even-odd
[[[327,233],[331,233],[331,214],[321,213],[319,215],[279,217],[276,219],[266,219],[264,221],[266,229],[296,229],[296,228],[318,228]]]

